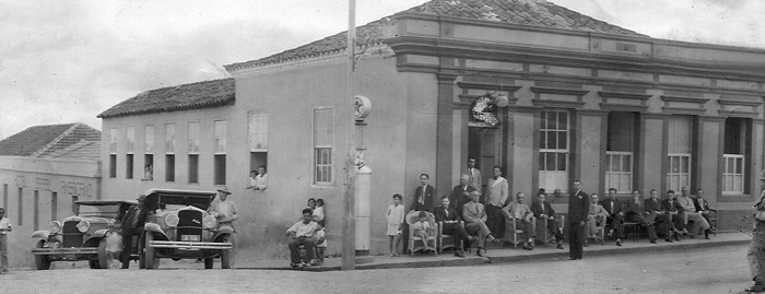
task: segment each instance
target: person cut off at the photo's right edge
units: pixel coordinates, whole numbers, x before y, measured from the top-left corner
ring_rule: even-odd
[[[746,261],[752,272],[754,285],[748,287],[749,293],[765,292],[765,170],[760,174],[762,192],[754,203],[754,228],[752,228],[752,243],[746,251]]]

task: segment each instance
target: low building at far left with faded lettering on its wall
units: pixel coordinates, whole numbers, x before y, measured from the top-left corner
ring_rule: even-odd
[[[30,127],[0,141],[2,208],[11,221],[9,266],[28,268],[32,233],[101,199],[101,131],[83,124]]]

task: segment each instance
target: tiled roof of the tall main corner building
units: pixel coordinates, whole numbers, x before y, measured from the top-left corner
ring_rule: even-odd
[[[646,35],[598,21],[543,0],[432,0],[403,12],[439,14],[470,20],[485,20],[521,25],[646,37]],[[380,43],[379,39],[382,36],[382,27],[388,23],[390,17],[392,17],[392,15],[358,26],[356,28],[356,42],[363,45]],[[225,66],[225,68],[231,71],[239,68],[279,63],[295,58],[313,57],[344,50],[346,45],[345,35],[346,33],[342,32],[294,49],[258,60],[228,64]]]

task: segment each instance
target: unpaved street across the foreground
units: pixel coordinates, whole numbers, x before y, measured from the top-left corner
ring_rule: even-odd
[[[746,246],[476,267],[12,271],[0,293],[742,293]],[[217,266],[217,264],[216,264]],[[216,267],[217,268],[217,267]]]

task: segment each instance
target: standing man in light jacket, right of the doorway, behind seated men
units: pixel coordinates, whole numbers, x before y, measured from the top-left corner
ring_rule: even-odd
[[[505,207],[508,196],[507,180],[502,177],[499,166],[494,166],[494,177],[486,183],[486,225],[495,237],[505,237],[505,215],[502,208]]]

